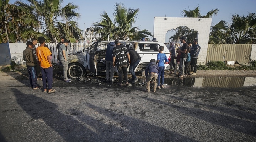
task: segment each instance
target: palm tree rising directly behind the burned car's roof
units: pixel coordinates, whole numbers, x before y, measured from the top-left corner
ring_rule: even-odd
[[[101,20],[94,23],[96,33],[101,34],[100,40],[108,40],[109,38],[112,40],[135,40],[153,36],[152,32],[148,30],[139,31],[139,26],[133,27],[138,11],[138,8],[127,9],[121,3],[115,4],[113,21],[104,11],[101,14]]]

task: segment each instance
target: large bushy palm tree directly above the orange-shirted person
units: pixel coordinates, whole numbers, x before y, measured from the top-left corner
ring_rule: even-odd
[[[56,42],[61,37],[69,39],[70,42],[75,42],[75,39],[82,37],[83,31],[78,28],[76,21],[72,21],[80,18],[80,14],[75,12],[78,6],[68,3],[64,7],[61,7],[63,0],[27,1],[30,5],[19,1],[16,4],[31,9],[31,13],[40,21],[39,28],[27,29],[27,32],[33,32],[34,30],[37,33],[34,37],[44,36],[47,42]],[[28,19],[23,19],[22,22],[28,22]],[[25,37],[24,34],[27,32],[21,33],[21,36]]]

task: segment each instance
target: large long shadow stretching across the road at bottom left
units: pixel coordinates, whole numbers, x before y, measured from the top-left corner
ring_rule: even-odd
[[[196,141],[181,134],[155,126],[123,112],[103,109],[85,103],[90,115],[70,110],[59,112],[58,106],[36,95],[11,88],[17,103],[34,119],[42,119],[67,142],[76,141]],[[96,117],[92,117],[95,116]],[[102,115],[102,118],[99,116]]]

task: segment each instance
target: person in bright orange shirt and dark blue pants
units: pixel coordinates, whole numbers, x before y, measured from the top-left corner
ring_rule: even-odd
[[[52,89],[52,82],[53,82],[53,68],[52,68],[52,62],[50,61],[50,55],[52,54],[49,50],[49,48],[44,47],[45,44],[45,38],[39,37],[38,42],[40,43],[40,46],[37,47],[37,58],[41,66],[41,72],[42,72],[42,79],[43,79],[43,87],[44,91],[47,92],[47,86],[46,86],[46,80],[48,85],[48,93],[55,92],[55,89]]]

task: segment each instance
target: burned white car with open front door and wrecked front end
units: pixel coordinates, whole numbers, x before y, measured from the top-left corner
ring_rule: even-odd
[[[90,47],[86,48],[84,52],[68,57],[68,76],[70,78],[80,78],[86,73],[105,72],[105,54],[107,44],[113,41],[95,42]],[[156,59],[158,54],[158,47],[164,46],[163,53],[169,57],[169,50],[162,42],[156,41],[120,41],[126,47],[132,48],[141,56],[139,65],[135,68],[135,72],[141,72],[145,76],[146,66],[151,59]],[[165,68],[168,64],[165,64]],[[59,67],[60,69],[62,67]],[[116,69],[117,71],[117,69]],[[129,68],[128,68],[129,71]]]

